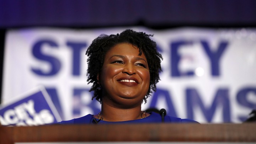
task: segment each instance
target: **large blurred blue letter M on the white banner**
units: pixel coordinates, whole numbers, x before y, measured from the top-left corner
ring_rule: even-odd
[[[208,108],[204,106],[201,96],[199,96],[197,90],[193,88],[186,89],[186,101],[187,117],[190,119],[194,119],[194,108],[199,107],[206,117],[207,122],[211,122],[218,105],[223,108],[223,121],[230,122],[230,101],[228,89],[219,89],[214,97],[212,105]]]

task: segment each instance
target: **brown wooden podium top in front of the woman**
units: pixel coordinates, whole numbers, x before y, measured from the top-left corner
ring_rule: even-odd
[[[256,123],[0,127],[0,144],[15,142],[256,142]]]

